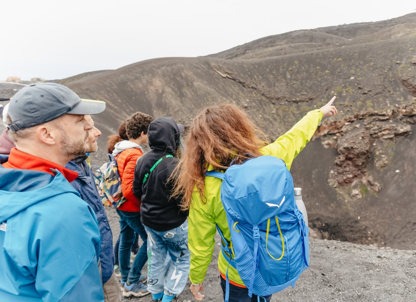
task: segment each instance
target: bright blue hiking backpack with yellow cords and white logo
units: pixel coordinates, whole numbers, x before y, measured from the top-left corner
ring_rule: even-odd
[[[222,253],[248,287],[248,295],[271,295],[295,287],[309,267],[309,228],[296,206],[293,179],[283,160],[264,155],[232,165],[223,179],[221,201],[231,242],[220,228]],[[225,302],[229,297],[228,268]]]

